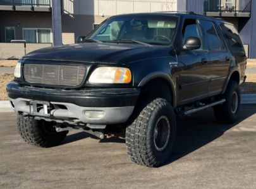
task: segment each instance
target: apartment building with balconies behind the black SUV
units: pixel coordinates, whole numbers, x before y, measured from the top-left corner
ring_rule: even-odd
[[[0,56],[8,45],[14,49],[11,40],[26,40],[30,52],[42,45],[74,43],[109,16],[155,11],[194,11],[231,21],[248,58],[256,59],[254,0],[0,0]]]

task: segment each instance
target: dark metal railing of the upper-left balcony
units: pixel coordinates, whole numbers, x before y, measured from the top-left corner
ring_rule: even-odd
[[[5,6],[30,6],[30,7],[49,7],[51,0],[0,0],[0,5]]]

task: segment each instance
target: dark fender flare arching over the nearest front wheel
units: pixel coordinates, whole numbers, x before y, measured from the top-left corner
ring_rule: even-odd
[[[164,73],[164,72],[152,72],[149,75],[145,76],[142,81],[140,81],[140,83],[138,84],[138,87],[142,87],[144,86],[146,83],[148,83],[150,80],[155,79],[155,78],[162,78],[162,79],[166,79],[166,81],[168,81],[168,83],[171,86],[171,93],[173,96],[173,108],[176,108],[176,90],[174,88],[174,84],[173,84],[173,80],[171,79],[171,77]]]

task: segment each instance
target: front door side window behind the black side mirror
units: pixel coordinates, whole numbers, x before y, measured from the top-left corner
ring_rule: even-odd
[[[186,19],[184,21],[182,33],[183,33],[183,42],[184,43],[186,41],[186,38],[188,38],[188,37],[197,37],[197,38],[200,39],[201,44],[202,44],[200,49],[197,49],[197,50],[203,50],[204,49],[204,43],[203,43],[203,40],[202,40],[202,33],[201,33],[201,31],[199,29],[199,26],[197,24],[197,20],[195,20],[195,19]]]

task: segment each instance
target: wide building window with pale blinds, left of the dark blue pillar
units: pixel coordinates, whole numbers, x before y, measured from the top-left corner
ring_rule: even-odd
[[[27,43],[51,43],[51,29],[23,28],[23,40]]]

